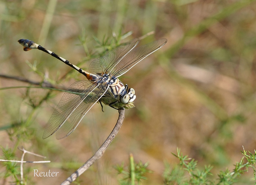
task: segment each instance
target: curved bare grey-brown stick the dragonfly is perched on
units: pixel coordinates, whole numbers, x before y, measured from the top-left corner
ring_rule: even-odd
[[[121,108],[119,111],[119,117],[117,119],[116,125],[113,128],[112,132],[108,136],[108,138],[105,140],[105,142],[101,145],[101,147],[96,151],[96,153],[88,159],[78,170],[76,170],[72,175],[70,175],[65,181],[61,183],[61,185],[68,185],[71,184],[74,180],[76,180],[83,172],[89,169],[89,167],[97,160],[102,157],[102,155],[105,153],[106,149],[110,145],[110,143],[113,141],[115,136],[117,135],[119,129],[123,125],[123,119],[124,119],[124,108]]]

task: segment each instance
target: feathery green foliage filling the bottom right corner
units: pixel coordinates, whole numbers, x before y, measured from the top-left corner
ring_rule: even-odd
[[[203,170],[200,170],[200,167],[197,166],[197,161],[195,159],[188,158],[188,156],[183,156],[180,152],[180,149],[177,149],[177,154],[172,153],[177,159],[179,159],[180,163],[178,166],[171,168],[169,164],[165,165],[164,172],[164,183],[165,185],[169,184],[180,184],[180,185],[230,185],[238,182],[241,179],[241,175],[244,172],[248,172],[251,168],[254,173],[254,181],[255,178],[255,167],[256,167],[256,152],[252,154],[249,152],[249,155],[244,150],[242,152],[243,157],[239,162],[237,162],[234,166],[233,170],[226,169],[225,171],[220,170],[216,180],[215,176],[210,172],[213,166],[206,166]],[[256,184],[256,182],[255,182]]]

